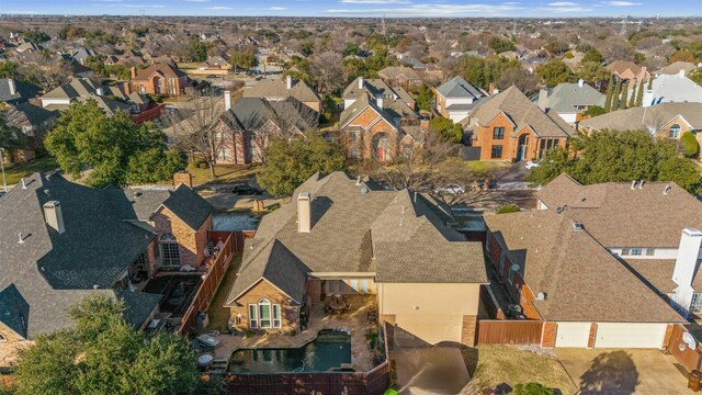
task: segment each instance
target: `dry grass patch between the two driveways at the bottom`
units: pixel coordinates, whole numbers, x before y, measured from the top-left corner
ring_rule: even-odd
[[[464,352],[464,358],[468,366],[476,366],[475,352]],[[575,394],[577,391],[558,360],[509,346],[478,346],[474,377],[480,388],[501,383],[513,388],[517,384],[537,382],[558,388],[563,394]]]

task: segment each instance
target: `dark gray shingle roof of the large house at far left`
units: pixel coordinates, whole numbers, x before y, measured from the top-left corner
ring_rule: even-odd
[[[30,305],[26,336],[70,325],[66,309],[93,292],[125,298],[127,319],[140,326],[138,320],[160,295],[115,292],[112,286],[156,236],[138,225],[138,210],[125,193],[90,189],[60,174],[33,174],[25,183],[26,189],[16,187],[0,201],[0,290],[14,286]],[[168,206],[177,215],[186,212],[185,221],[192,222],[202,216],[202,204],[186,203],[191,193],[181,187],[165,199],[178,196]],[[60,235],[45,223],[47,201],[61,204],[66,230]]]

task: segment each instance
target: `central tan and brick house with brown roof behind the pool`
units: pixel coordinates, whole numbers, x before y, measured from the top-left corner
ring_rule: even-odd
[[[314,174],[246,240],[225,307],[233,327],[290,332],[333,295],[373,295],[381,321],[428,343],[473,346],[478,242],[453,230],[450,208],[409,190],[346,173]]]

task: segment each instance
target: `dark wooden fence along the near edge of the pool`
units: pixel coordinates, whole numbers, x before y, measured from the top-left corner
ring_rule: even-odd
[[[382,395],[389,386],[389,372],[385,361],[370,372],[230,374],[227,388],[233,395]]]

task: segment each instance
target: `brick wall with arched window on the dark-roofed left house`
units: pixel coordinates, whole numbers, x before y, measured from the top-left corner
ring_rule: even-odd
[[[180,264],[200,268],[205,259],[207,232],[212,228],[212,214],[207,216],[199,229],[192,229],[173,212],[167,207],[160,207],[151,216],[151,226],[156,229],[157,239],[166,234],[176,236],[179,245]]]

